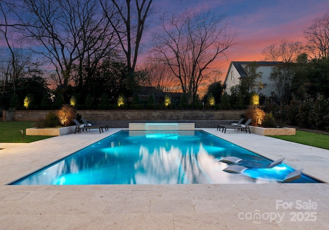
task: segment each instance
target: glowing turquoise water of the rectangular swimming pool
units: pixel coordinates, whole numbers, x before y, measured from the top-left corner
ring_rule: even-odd
[[[205,131],[122,130],[10,184],[283,183],[295,170],[281,164],[231,174],[223,171],[229,164],[218,161],[228,156],[272,162]],[[318,182],[302,175],[290,183]]]

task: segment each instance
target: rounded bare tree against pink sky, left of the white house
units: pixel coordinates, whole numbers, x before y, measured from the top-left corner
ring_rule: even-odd
[[[170,67],[182,91],[193,98],[209,65],[237,42],[225,18],[208,9],[187,9],[180,15],[163,16],[162,30],[154,35],[154,52]]]

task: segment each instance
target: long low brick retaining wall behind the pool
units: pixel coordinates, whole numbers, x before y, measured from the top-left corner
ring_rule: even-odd
[[[40,121],[54,110],[3,110],[3,121]],[[130,122],[193,122],[195,127],[217,127],[241,118],[244,110],[78,110],[90,123],[113,128]],[[218,123],[219,122],[219,123]]]

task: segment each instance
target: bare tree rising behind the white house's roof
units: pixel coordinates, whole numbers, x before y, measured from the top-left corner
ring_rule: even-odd
[[[293,42],[282,39],[279,45],[275,43],[266,46],[261,53],[265,56],[265,60],[291,63],[296,62],[298,55],[303,52],[304,47],[301,42]]]

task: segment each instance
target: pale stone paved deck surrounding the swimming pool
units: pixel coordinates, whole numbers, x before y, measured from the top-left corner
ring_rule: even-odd
[[[6,185],[118,130],[0,143],[0,229],[328,229],[327,183]],[[329,182],[329,150],[204,130]]]

